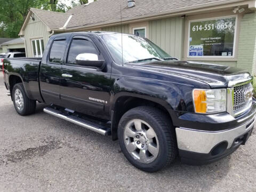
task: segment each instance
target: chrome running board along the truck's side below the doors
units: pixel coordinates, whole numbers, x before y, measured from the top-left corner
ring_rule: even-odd
[[[109,135],[110,134],[110,129],[105,127],[105,126],[98,125],[98,124],[86,121],[82,118],[75,117],[73,115],[63,114],[59,110],[47,107],[47,108],[44,108],[44,112],[47,113],[47,114],[53,115],[55,117],[59,117],[61,119],[64,119],[68,122],[74,123],[76,125],[85,127],[86,129],[89,129],[91,131],[100,133],[102,135]]]

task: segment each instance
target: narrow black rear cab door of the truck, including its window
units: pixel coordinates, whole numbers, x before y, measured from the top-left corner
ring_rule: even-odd
[[[46,58],[42,59],[40,69],[40,86],[44,101],[47,104],[61,106],[60,102],[60,78],[61,64],[67,47],[66,37],[57,37],[50,43],[50,51]],[[48,46],[48,45],[47,45]]]

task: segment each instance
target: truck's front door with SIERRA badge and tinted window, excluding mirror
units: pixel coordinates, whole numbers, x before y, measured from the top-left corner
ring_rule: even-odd
[[[83,114],[108,118],[111,62],[107,60],[104,51],[100,50],[97,43],[83,35],[71,37],[69,49],[66,52],[66,62],[61,69],[62,105]],[[97,54],[99,60],[105,60],[106,67],[98,70],[78,65],[76,57],[81,53]]]

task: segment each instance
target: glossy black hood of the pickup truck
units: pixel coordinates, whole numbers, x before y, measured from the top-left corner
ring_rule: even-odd
[[[235,67],[190,61],[155,61],[133,63],[133,67],[192,78],[209,84],[212,88],[228,87],[229,82],[243,82],[251,77],[246,70]]]

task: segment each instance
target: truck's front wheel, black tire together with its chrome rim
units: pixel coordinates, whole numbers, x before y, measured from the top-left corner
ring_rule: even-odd
[[[118,125],[119,145],[135,167],[156,172],[177,156],[174,127],[161,110],[137,107],[127,111]]]

